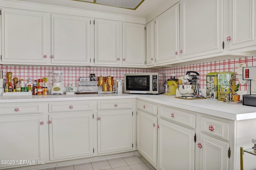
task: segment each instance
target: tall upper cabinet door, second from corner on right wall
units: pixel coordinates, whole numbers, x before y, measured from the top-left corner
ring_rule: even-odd
[[[179,60],[179,4],[155,19],[155,64]]]

